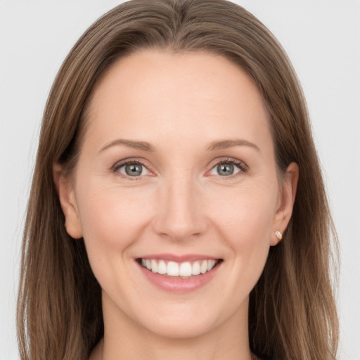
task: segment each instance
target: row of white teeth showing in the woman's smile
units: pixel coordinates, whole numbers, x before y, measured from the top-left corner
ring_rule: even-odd
[[[136,261],[153,272],[171,278],[191,278],[206,274],[214,269],[222,259],[204,259],[195,262],[173,262],[159,259],[136,259]]]

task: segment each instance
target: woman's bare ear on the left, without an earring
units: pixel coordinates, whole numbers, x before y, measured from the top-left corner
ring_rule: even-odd
[[[66,231],[72,238],[82,238],[82,225],[77,210],[74,187],[70,176],[65,176],[61,165],[53,166],[53,180],[58,191],[61,209],[65,215]]]

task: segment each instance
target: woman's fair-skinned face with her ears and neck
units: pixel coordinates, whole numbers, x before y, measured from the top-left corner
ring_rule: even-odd
[[[54,178],[102,288],[91,360],[250,360],[249,293],[298,176],[278,178],[255,84],[221,56],[140,51],[101,77],[86,121],[74,176],[56,165]]]

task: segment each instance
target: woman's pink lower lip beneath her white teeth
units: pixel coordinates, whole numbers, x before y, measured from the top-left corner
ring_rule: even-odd
[[[190,291],[197,290],[203,287],[205,284],[209,283],[214,275],[217,273],[221,263],[214,266],[210,271],[207,271],[205,274],[194,275],[189,278],[170,278],[163,276],[153,271],[148,270],[146,267],[138,264],[144,276],[153,283],[155,286],[161,290],[173,292],[173,293],[188,293]]]

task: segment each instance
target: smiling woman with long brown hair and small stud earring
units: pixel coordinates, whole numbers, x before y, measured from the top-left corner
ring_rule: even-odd
[[[281,46],[226,1],[130,1],[44,113],[23,359],[334,359],[333,232]]]

